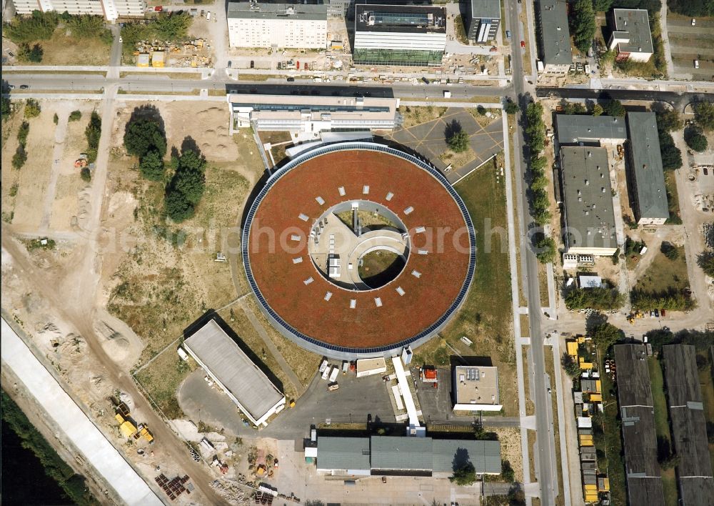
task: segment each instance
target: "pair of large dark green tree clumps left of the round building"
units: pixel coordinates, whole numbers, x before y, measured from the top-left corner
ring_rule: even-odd
[[[150,181],[166,181],[166,134],[156,118],[141,117],[127,124],[126,152],[139,157],[139,172]],[[193,145],[171,154],[171,174],[166,182],[166,215],[174,222],[193,217],[206,187],[206,158]]]

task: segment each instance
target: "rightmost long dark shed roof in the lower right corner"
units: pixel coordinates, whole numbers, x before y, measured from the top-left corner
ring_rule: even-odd
[[[680,457],[679,488],[685,505],[714,503],[714,477],[708,450],[706,419],[699,386],[695,347],[663,347],[672,439]]]

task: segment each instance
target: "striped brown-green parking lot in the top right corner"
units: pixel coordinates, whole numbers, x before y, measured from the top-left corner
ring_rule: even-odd
[[[678,79],[710,81],[714,76],[714,18],[692,19],[668,14],[667,31],[674,76]],[[699,62],[695,69],[694,61]]]

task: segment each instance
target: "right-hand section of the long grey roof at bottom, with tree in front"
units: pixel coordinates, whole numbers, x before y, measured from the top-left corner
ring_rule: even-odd
[[[468,460],[476,472],[501,472],[501,443],[498,441],[433,440],[434,472],[451,472],[454,464]]]

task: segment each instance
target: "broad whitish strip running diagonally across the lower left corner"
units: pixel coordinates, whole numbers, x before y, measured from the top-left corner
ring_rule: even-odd
[[[123,502],[129,506],[163,504],[4,319],[0,344],[4,367],[12,369],[57,427]]]

